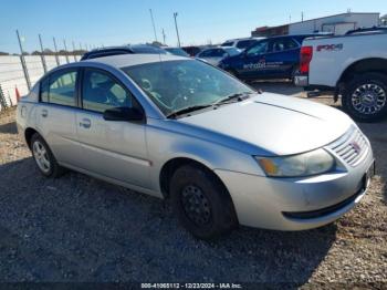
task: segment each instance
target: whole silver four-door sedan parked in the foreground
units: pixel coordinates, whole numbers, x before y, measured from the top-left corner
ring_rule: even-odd
[[[332,222],[362,199],[374,167],[346,114],[176,55],[56,68],[19,103],[18,127],[46,177],[70,168],[169,199],[201,239],[238,225]]]

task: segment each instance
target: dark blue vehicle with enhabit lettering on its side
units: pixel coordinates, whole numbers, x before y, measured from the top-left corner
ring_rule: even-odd
[[[219,66],[243,80],[293,79],[300,65],[302,41],[315,35],[317,34],[264,39],[241,54],[226,58]]]

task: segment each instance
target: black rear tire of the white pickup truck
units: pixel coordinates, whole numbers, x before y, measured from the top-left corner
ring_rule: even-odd
[[[369,92],[375,95],[372,96],[370,102],[373,102],[373,99],[375,101],[375,97],[378,96],[381,107],[376,110],[376,106],[374,106],[374,110],[369,108],[370,111],[368,112],[362,112],[368,108],[358,103],[358,100],[363,99],[362,96],[358,97],[358,95],[362,95],[362,92],[364,93],[364,87],[367,87],[367,85],[369,85]],[[378,95],[377,92],[379,92],[381,95]],[[387,75],[373,72],[356,74],[353,80],[345,85],[342,95],[342,104],[343,108],[348,113],[348,115],[356,121],[377,122],[381,120],[387,115]]]

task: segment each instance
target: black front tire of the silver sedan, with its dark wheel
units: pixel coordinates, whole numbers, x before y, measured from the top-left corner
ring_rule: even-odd
[[[213,239],[238,226],[229,193],[207,168],[196,165],[179,167],[172,175],[169,188],[171,205],[180,224],[195,237]],[[190,194],[187,196],[187,193]],[[200,213],[192,214],[188,209],[195,201]]]

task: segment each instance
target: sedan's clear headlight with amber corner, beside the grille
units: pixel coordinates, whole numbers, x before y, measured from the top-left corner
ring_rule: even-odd
[[[300,177],[326,173],[335,159],[324,149],[282,157],[254,156],[268,176]]]

